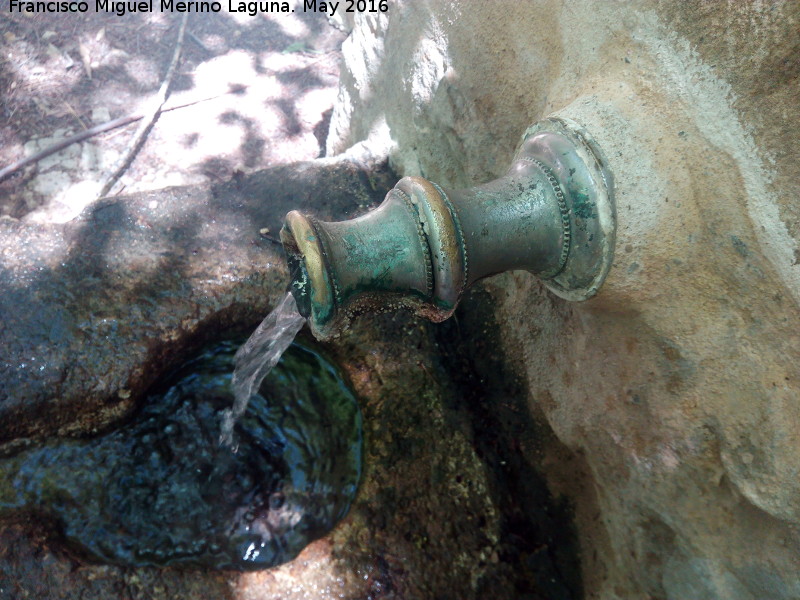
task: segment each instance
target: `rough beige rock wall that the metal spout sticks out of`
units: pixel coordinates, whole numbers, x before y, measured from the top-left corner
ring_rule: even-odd
[[[344,44],[329,153],[468,186],[558,115],[608,159],[598,296],[485,283],[567,449],[530,460],[574,504],[587,597],[800,596],[799,26],[788,0],[415,0]]]

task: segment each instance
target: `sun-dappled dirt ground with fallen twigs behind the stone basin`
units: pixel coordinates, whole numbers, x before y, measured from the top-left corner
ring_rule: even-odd
[[[91,3],[90,3],[91,4]],[[0,168],[145,111],[180,14],[0,14]],[[324,148],[345,34],[321,13],[190,14],[164,112],[110,195],[226,180]],[[0,215],[67,221],[92,201],[138,123],[0,181]]]

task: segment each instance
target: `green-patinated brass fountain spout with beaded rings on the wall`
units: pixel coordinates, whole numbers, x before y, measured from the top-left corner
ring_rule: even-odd
[[[281,241],[298,309],[325,339],[369,310],[406,307],[443,321],[473,283],[512,269],[585,300],[611,266],[615,227],[597,144],[577,124],[549,118],[525,132],[500,179],[450,191],[404,177],[350,221],[290,212]]]

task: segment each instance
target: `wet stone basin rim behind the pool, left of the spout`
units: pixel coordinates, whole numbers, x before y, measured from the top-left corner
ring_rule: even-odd
[[[0,218],[0,445],[123,418],[187,352],[270,311],[289,210],[352,217],[393,181],[320,160],[103,200],[63,225]]]

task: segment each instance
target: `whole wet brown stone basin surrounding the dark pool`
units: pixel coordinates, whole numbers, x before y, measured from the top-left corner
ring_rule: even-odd
[[[116,431],[170,369],[274,306],[288,275],[271,236],[289,208],[349,218],[393,183],[321,160],[103,200],[65,225],[0,221],[4,460]],[[570,506],[526,458],[552,434],[495,352],[491,303],[477,291],[439,326],[364,315],[324,345],[361,407],[363,475],[349,514],[295,560],[102,564],[56,523],[11,513],[0,598],[580,597]]]

